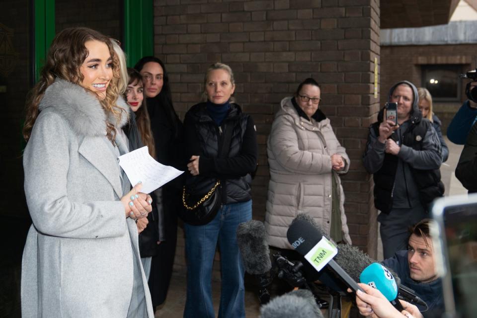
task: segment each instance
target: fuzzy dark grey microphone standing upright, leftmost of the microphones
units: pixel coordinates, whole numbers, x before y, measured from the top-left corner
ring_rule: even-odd
[[[237,229],[237,244],[242,256],[245,271],[258,281],[258,299],[260,304],[270,301],[266,287],[270,284],[270,250],[266,241],[265,226],[262,222],[250,220],[240,223]]]

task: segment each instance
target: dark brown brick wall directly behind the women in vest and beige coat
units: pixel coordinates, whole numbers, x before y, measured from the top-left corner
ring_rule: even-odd
[[[221,61],[235,72],[237,100],[257,126],[254,219],[262,221],[265,214],[266,140],[273,114],[301,80],[314,77],[321,83],[320,107],[352,160],[342,177],[351,237],[372,254],[376,213],[361,156],[379,108],[373,97],[379,12],[375,0],[156,0],[154,8],[155,54],[166,64],[181,118],[200,101],[210,64]],[[177,271],[185,268],[183,244],[180,232]]]

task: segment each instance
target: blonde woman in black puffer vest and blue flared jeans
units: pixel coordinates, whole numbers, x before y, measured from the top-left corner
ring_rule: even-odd
[[[211,275],[217,242],[222,272],[219,318],[242,318],[245,317],[245,272],[236,235],[239,224],[252,218],[250,173],[257,164],[255,126],[232,97],[235,80],[228,65],[213,64],[207,70],[204,86],[205,102],[192,106],[184,119],[185,149],[190,160],[186,188],[195,189],[193,192],[201,197],[220,180],[222,205],[206,225],[184,223],[187,256],[184,318],[215,317]],[[226,156],[219,156],[223,147],[227,147]]]

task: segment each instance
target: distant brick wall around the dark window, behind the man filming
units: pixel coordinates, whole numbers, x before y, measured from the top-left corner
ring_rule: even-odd
[[[399,80],[407,79],[417,87],[422,86],[421,65],[459,64],[462,71],[467,72],[476,68],[476,52],[476,44],[381,47],[381,105],[388,100],[389,88]],[[467,99],[467,82],[467,79],[462,80],[460,101],[433,102],[434,112],[442,121],[444,135],[454,114]]]

